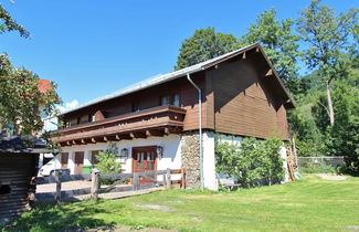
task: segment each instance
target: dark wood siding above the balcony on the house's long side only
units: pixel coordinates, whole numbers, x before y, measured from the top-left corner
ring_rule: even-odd
[[[192,74],[193,81],[203,89],[205,89],[205,74],[204,72]],[[133,112],[133,104],[139,106],[140,109],[147,109],[160,105],[160,97],[166,95],[180,95],[180,105],[187,109],[184,118],[183,130],[198,129],[198,92],[187,81],[186,77],[179,78],[169,83],[163,83],[140,92],[120,96],[114,99],[109,99],[77,112],[70,113],[64,116],[64,120],[71,122],[71,126],[76,125],[76,118],[91,117],[97,110],[101,110],[105,118],[119,116],[123,114]],[[207,98],[205,92],[202,94],[202,110],[203,110],[203,128],[213,128],[213,123],[208,124],[207,120]],[[82,123],[82,122],[81,122]]]

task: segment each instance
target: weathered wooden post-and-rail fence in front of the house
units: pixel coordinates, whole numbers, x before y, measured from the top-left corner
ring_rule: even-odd
[[[171,175],[180,175],[180,180],[172,180]],[[162,180],[158,180],[158,176],[162,177]],[[112,179],[114,181],[110,186],[102,187],[101,179]],[[70,181],[91,181],[91,187],[62,190],[63,182]],[[141,181],[147,180],[146,183]],[[130,186],[122,186],[120,183],[130,181]],[[133,173],[99,173],[96,169],[91,175],[63,175],[61,170],[56,170],[53,176],[38,177],[36,184],[56,183],[53,192],[40,192],[35,193],[36,201],[55,201],[60,203],[62,200],[71,200],[75,196],[91,194],[91,199],[97,200],[99,193],[107,192],[122,192],[134,191],[151,187],[163,186],[166,188],[172,188],[173,183],[180,183],[181,188],[186,188],[186,171],[184,169],[167,169],[149,172],[133,172]]]

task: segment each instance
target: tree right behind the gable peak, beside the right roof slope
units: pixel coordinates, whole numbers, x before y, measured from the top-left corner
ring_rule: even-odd
[[[249,28],[249,32],[241,39],[244,43],[260,43],[282,81],[291,89],[295,91],[297,77],[297,56],[299,38],[293,33],[294,21],[292,19],[277,20],[276,10],[265,10],[258,15],[256,23]]]

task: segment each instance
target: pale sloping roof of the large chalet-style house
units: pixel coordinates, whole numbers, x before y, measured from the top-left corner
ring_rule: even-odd
[[[175,71],[175,72],[171,72],[171,73],[167,73],[167,74],[163,74],[163,75],[159,75],[159,76],[155,76],[155,77],[141,81],[141,82],[139,82],[139,83],[137,83],[135,85],[131,85],[131,86],[126,87],[124,89],[120,89],[118,92],[115,92],[115,93],[112,93],[112,94],[108,94],[108,95],[92,99],[92,101],[89,101],[89,102],[87,102],[85,104],[80,105],[78,107],[67,109],[67,110],[63,112],[61,115],[64,115],[64,114],[67,114],[67,113],[71,113],[71,112],[75,112],[75,110],[85,108],[87,106],[95,105],[97,103],[102,103],[102,102],[105,102],[105,101],[108,101],[108,99],[112,99],[112,98],[115,98],[115,97],[119,97],[119,96],[124,96],[124,95],[127,95],[127,94],[130,94],[130,93],[135,93],[135,92],[145,89],[145,88],[148,88],[148,87],[151,87],[151,86],[156,86],[156,85],[159,85],[159,84],[162,84],[162,83],[166,83],[166,82],[170,82],[172,80],[183,77],[184,75],[187,75],[187,73],[192,74],[192,73],[197,73],[197,72],[207,70],[207,68],[209,68],[209,67],[211,67],[211,66],[213,66],[213,65],[215,65],[215,64],[218,64],[220,62],[226,61],[226,60],[229,60],[231,57],[234,57],[234,56],[236,56],[239,54],[242,54],[242,53],[244,53],[244,52],[246,52],[249,50],[256,49],[256,48],[258,48],[261,50],[261,52],[265,56],[266,61],[268,62],[270,66],[272,67],[272,70],[274,70],[273,65],[271,64],[270,60],[266,57],[266,55],[265,55],[263,49],[261,48],[261,45],[257,44],[257,43],[254,43],[254,44],[244,46],[242,49],[235,50],[233,52],[225,53],[225,54],[220,55],[218,57],[214,57],[214,59],[211,59],[211,60],[194,64],[192,66],[188,66],[188,67]],[[285,87],[284,87],[281,78],[278,77],[278,74],[275,72],[275,70],[274,70],[274,74],[277,77],[277,81],[281,83],[285,94],[288,96],[288,99],[294,104],[294,101],[292,99],[289,93],[285,89]]]

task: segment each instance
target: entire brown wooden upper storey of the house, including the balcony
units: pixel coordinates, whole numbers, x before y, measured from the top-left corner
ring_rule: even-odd
[[[202,89],[203,129],[288,139],[286,110],[294,105],[258,45],[207,64],[191,78]],[[66,127],[54,140],[72,146],[197,130],[198,113],[198,91],[183,75],[64,114]]]

